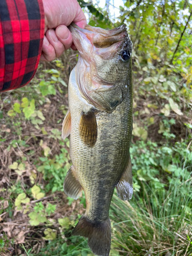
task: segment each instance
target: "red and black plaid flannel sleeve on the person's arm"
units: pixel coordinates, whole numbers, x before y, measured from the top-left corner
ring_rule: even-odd
[[[23,87],[33,78],[44,29],[42,0],[0,0],[0,91]]]

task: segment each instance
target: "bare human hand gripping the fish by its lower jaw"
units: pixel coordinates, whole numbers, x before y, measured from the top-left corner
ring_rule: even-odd
[[[42,0],[45,12],[45,36],[40,60],[51,61],[73,45],[67,28],[72,22],[84,28],[86,16],[76,0]]]

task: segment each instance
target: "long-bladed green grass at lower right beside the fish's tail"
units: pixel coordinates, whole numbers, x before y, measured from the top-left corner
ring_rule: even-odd
[[[166,192],[136,194],[130,202],[114,196],[111,205],[113,245],[127,255],[192,255],[192,179],[178,185],[174,180]]]

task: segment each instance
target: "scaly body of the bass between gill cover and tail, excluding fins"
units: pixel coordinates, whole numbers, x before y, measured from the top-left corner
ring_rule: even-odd
[[[86,196],[86,216],[101,223],[109,218],[114,188],[129,161],[132,130],[132,92],[112,113],[96,115],[97,141],[94,146],[84,144],[79,136],[82,112],[94,108],[79,93],[72,71],[69,83],[71,113],[70,156],[75,175]]]

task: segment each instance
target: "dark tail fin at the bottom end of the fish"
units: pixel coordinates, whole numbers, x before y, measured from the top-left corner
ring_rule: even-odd
[[[72,235],[88,238],[88,245],[94,254],[108,256],[111,248],[110,219],[102,223],[94,223],[82,216],[74,228]]]

